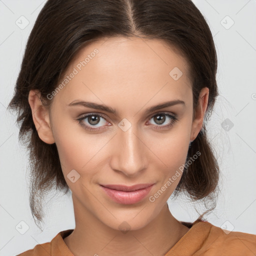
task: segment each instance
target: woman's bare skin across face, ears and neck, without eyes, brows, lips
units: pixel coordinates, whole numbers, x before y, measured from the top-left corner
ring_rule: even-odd
[[[39,137],[56,143],[65,180],[72,192],[75,229],[64,242],[75,255],[163,255],[188,230],[170,213],[166,201],[181,175],[154,202],[156,193],[183,163],[189,146],[199,133],[208,102],[208,88],[199,94],[192,121],[192,89],[185,59],[159,39],[115,37],[93,42],[78,52],[65,74],[97,48],[99,52],[53,96],[45,108],[35,92],[28,101]],[[169,72],[182,71],[174,80]],[[61,81],[60,81],[61,82]],[[117,114],[84,106],[68,106],[73,100],[105,104]],[[156,104],[180,99],[176,104],[145,113]],[[157,113],[177,115],[171,127],[153,118]],[[75,119],[85,113],[100,113],[98,124],[83,123],[101,130],[88,131]],[[126,131],[118,123],[126,118]],[[109,125],[107,125],[109,124]],[[67,178],[75,169],[80,177]],[[112,201],[99,184],[155,183],[149,194],[135,204]],[[119,229],[126,221],[129,231]]]

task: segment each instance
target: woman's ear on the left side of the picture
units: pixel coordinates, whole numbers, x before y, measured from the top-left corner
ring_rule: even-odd
[[[49,110],[43,106],[40,100],[40,92],[38,90],[30,90],[28,94],[28,102],[32,110],[32,117],[38,136],[47,144],[55,142],[50,127]]]

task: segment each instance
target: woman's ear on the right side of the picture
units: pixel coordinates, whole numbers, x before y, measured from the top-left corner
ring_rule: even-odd
[[[204,87],[201,89],[198,98],[197,109],[194,113],[194,120],[192,122],[190,140],[194,140],[198,135],[203,125],[203,117],[208,104],[209,88]]]

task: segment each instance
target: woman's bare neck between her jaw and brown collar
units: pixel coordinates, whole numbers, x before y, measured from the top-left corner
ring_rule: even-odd
[[[128,232],[106,226],[90,211],[82,213],[74,207],[76,226],[64,238],[69,250],[79,256],[164,255],[189,230],[172,216],[166,204],[146,226]]]

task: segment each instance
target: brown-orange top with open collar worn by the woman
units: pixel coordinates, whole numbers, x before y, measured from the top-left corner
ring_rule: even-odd
[[[256,255],[256,234],[222,230],[203,220],[180,223],[190,229],[170,248],[164,256],[254,256]],[[17,256],[74,256],[63,238],[73,229],[60,231],[50,241],[37,244]]]

